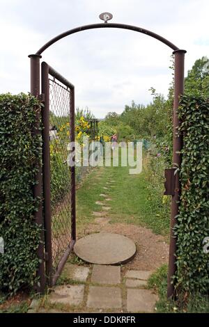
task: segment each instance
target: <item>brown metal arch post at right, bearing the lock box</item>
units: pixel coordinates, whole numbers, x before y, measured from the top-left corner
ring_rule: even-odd
[[[175,56],[175,72],[174,72],[174,103],[173,103],[173,166],[180,168],[181,156],[179,154],[183,147],[183,136],[178,136],[177,128],[180,125],[178,119],[179,97],[184,91],[184,60],[185,50],[173,51]],[[171,200],[171,235],[169,246],[169,272],[167,297],[173,296],[174,285],[171,284],[172,276],[176,272],[176,237],[173,234],[173,227],[176,225],[176,215],[178,215],[180,200],[180,180],[179,171],[175,175],[175,190]]]

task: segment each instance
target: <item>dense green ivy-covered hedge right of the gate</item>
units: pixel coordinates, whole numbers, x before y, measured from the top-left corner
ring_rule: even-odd
[[[203,240],[209,237],[209,101],[184,95],[180,99],[183,162],[177,234],[177,291],[183,294],[209,291],[209,253]],[[186,296],[187,297],[187,296]]]

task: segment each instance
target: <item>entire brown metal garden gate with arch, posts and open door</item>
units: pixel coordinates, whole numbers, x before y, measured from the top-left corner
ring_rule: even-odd
[[[56,43],[57,41],[65,38],[68,35],[72,35],[75,33],[79,33],[82,31],[87,31],[91,29],[127,29],[130,31],[142,33],[150,36],[151,38],[155,38],[160,42],[167,45],[169,48],[173,50],[174,55],[174,103],[173,103],[173,165],[180,168],[181,164],[181,156],[180,150],[182,149],[183,144],[183,136],[178,134],[177,129],[180,125],[180,121],[178,118],[178,104],[179,104],[179,96],[183,94],[184,91],[184,60],[186,51],[183,49],[179,49],[176,45],[173,45],[169,40],[163,38],[161,35],[153,33],[152,31],[148,31],[147,29],[142,29],[139,26],[132,26],[127,24],[114,24],[108,23],[107,21],[112,18],[110,13],[102,13],[100,15],[100,19],[104,20],[102,24],[89,24],[85,26],[79,26],[75,29],[70,29],[69,31],[65,31],[59,35],[56,35],[52,40],[49,40],[45,45],[43,45],[36,54],[29,55],[31,58],[31,94],[35,97],[40,97],[40,58],[42,58],[42,53],[48,49],[51,45]],[[49,79],[48,75],[51,75],[52,79]],[[53,90],[54,91],[51,91]],[[57,93],[54,93],[56,90]],[[67,97],[63,95],[63,93],[68,94]],[[65,237],[65,241],[61,243],[59,240],[59,244],[61,245],[60,250],[56,249],[55,239],[56,236],[53,232],[55,221],[57,218],[56,210],[54,214],[54,208],[51,207],[50,200],[50,175],[49,175],[49,162],[50,162],[50,154],[49,154],[49,110],[52,111],[53,108],[56,108],[56,104],[61,104],[62,99],[68,99],[70,104],[66,106],[65,109],[70,110],[70,140],[74,141],[74,87],[71,83],[66,81],[60,74],[55,72],[52,67],[49,67],[46,63],[42,63],[42,94],[45,96],[44,103],[45,109],[42,116],[42,121],[44,122],[45,127],[43,131],[43,139],[44,139],[44,154],[43,154],[43,171],[40,167],[38,173],[36,174],[36,185],[33,189],[34,198],[38,198],[42,196],[42,173],[43,173],[43,192],[44,192],[44,212],[45,212],[45,239],[43,233],[41,234],[41,242],[37,250],[38,257],[40,258],[40,266],[38,268],[38,276],[40,277],[40,285],[37,287],[38,292],[43,292],[45,287],[45,265],[47,267],[47,278],[49,278],[49,285],[53,285],[56,281],[61,268],[68,257],[68,253],[75,244],[75,168],[70,170],[71,176],[71,186],[70,187],[70,198],[71,198],[71,236],[68,234]],[[55,97],[55,94],[57,96]],[[59,94],[59,96],[58,96]],[[53,107],[54,104],[54,107]],[[59,110],[62,110],[62,106]],[[56,109],[54,109],[56,110]],[[40,117],[38,111],[36,112],[37,123],[36,127],[39,127]],[[55,113],[56,116],[56,113]],[[51,114],[50,118],[52,120],[54,116]],[[56,134],[56,125],[52,126],[54,132],[51,134]],[[38,128],[36,129],[36,133],[38,133]],[[65,164],[65,163],[63,163]],[[173,234],[173,226],[176,224],[176,215],[178,214],[178,207],[180,205],[180,180],[179,173],[177,171],[176,175],[174,175],[174,169],[171,168],[167,170],[167,185],[166,192],[172,196],[171,202],[171,237],[170,237],[170,248],[169,248],[169,273],[168,273],[168,287],[167,287],[167,296],[172,296],[174,292],[172,276],[176,271],[176,237]],[[70,200],[69,200],[70,205]],[[52,209],[52,213],[50,210]],[[42,219],[42,206],[40,204],[38,211],[35,213],[36,223],[40,226],[43,225]],[[60,220],[60,218],[58,219]],[[63,221],[61,220],[61,224]],[[52,225],[52,232],[50,234]],[[69,226],[68,226],[69,227]],[[60,234],[61,237],[61,234]],[[63,237],[63,236],[62,236]],[[58,239],[59,237],[57,237]],[[44,249],[45,244],[45,249]],[[45,255],[44,255],[45,253]],[[44,264],[44,261],[46,264]]]

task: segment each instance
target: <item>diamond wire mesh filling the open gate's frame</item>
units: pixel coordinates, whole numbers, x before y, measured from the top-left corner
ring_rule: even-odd
[[[49,147],[52,211],[52,273],[71,239],[70,89],[49,79]]]

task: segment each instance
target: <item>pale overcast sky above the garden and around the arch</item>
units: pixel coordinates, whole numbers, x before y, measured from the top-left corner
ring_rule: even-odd
[[[85,24],[137,25],[186,49],[185,73],[209,55],[208,0],[0,0],[0,93],[29,91],[29,58],[55,35]],[[97,118],[121,113],[132,99],[151,101],[152,86],[167,96],[172,50],[141,33],[96,29],[70,35],[42,60],[75,85],[76,106]]]

